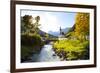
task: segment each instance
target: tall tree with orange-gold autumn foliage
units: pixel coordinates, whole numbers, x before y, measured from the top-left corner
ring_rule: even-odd
[[[75,18],[75,36],[84,40],[89,36],[89,13],[77,13]]]

